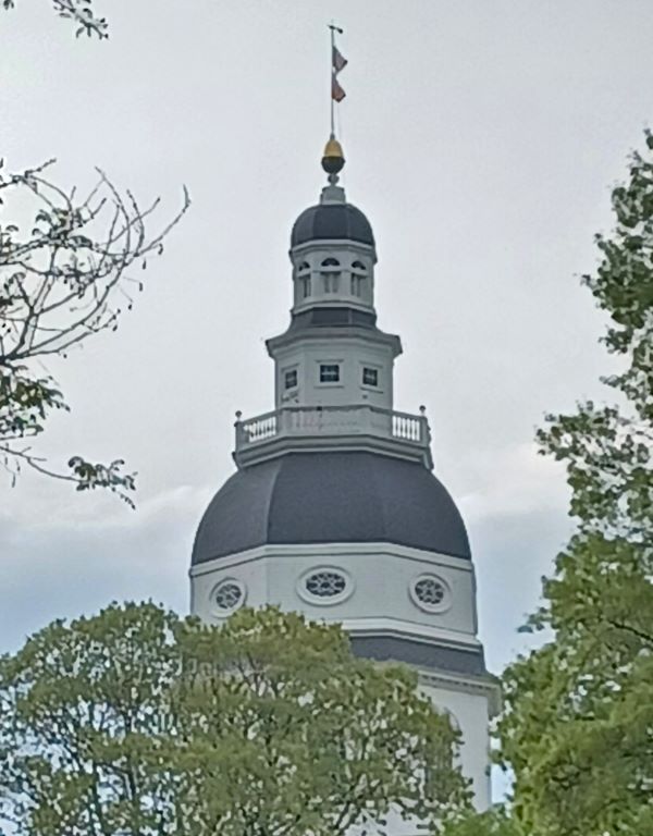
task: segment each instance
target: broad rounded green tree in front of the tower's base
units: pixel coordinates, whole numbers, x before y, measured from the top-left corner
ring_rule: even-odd
[[[456,734],[398,665],[274,607],[56,622],[0,664],[0,817],[20,836],[342,836],[467,803]]]

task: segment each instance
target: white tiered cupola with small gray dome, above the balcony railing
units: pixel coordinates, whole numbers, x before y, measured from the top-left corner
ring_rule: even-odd
[[[329,184],[291,233],[291,327],[267,343],[275,362],[275,406],[391,410],[402,345],[377,328],[372,228],[337,185],[344,157],[333,138],[322,164]],[[368,416],[352,411],[353,428],[356,417],[362,430]]]

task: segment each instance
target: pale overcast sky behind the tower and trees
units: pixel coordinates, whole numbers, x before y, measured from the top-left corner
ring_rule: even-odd
[[[378,242],[379,324],[401,334],[395,407],[424,404],[435,472],[465,517],[480,636],[500,672],[564,545],[564,471],[535,428],[609,397],[603,320],[580,275],[653,104],[650,0],[96,0],[110,39],[47,2],[0,12],[0,156],[94,167],[158,222],[190,212],[115,334],[48,364],[70,415],[38,451],[124,457],[137,509],[0,474],[0,652],[112,600],[188,607],[200,516],[233,471],[234,413],[273,406],[266,337],[291,306],[289,229],[323,184],[329,40],[348,198]],[[152,228],[156,229],[156,228]]]

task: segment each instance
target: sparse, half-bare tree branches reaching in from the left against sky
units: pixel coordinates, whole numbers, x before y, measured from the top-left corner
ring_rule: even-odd
[[[3,0],[5,9],[13,0]],[[106,37],[89,0],[54,0],[62,16],[81,30]],[[91,464],[79,455],[69,471],[50,469],[34,452],[33,440],[53,410],[69,409],[45,361],[100,331],[115,331],[121,311],[143,283],[130,269],[145,268],[161,255],[163,239],[189,206],[184,189],[181,211],[149,234],[158,200],[141,209],[131,192],[121,193],[98,171],[86,197],[49,179],[53,161],[5,173],[0,160],[0,463],[15,482],[22,466],[72,481],[77,490],[108,488],[130,504],[134,475],[124,463]],[[17,218],[23,218],[22,223]],[[7,220],[5,220],[7,219]]]

